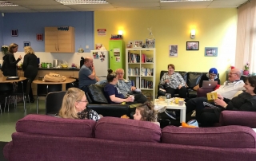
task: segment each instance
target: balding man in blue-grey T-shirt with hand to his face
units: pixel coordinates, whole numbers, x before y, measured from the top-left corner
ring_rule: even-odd
[[[88,86],[98,81],[94,69],[94,61],[91,57],[86,57],[84,65],[79,71],[79,88],[84,92],[88,92]]]

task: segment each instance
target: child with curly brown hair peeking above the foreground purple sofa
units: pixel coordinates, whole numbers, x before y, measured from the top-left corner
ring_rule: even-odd
[[[160,126],[159,122],[157,121],[158,114],[154,110],[154,104],[152,104],[152,102],[148,100],[144,104],[136,107],[134,113],[134,120],[150,121]]]

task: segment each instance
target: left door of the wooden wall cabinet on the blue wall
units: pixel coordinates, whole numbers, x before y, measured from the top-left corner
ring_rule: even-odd
[[[57,27],[45,27],[45,51],[58,52]]]

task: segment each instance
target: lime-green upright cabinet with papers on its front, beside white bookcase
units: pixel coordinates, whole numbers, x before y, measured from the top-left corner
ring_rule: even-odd
[[[124,52],[122,51],[122,40],[110,41],[110,69],[115,71],[116,69],[124,69]]]

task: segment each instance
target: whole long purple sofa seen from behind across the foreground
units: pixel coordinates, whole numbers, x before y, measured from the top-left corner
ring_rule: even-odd
[[[22,160],[254,160],[256,133],[237,125],[159,128],[146,121],[104,117],[70,120],[30,114],[16,124],[4,156]]]

